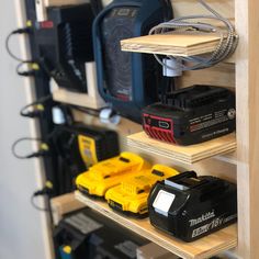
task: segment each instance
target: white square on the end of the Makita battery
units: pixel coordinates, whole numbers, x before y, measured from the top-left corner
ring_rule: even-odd
[[[160,190],[153,203],[153,206],[157,213],[168,216],[168,212],[174,199],[174,194]]]

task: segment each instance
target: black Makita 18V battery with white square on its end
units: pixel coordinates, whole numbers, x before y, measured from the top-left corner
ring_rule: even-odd
[[[158,182],[149,194],[148,210],[155,227],[193,241],[236,222],[236,184],[187,171]]]

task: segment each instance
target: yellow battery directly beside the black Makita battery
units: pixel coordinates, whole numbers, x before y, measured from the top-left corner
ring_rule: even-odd
[[[145,217],[148,213],[147,199],[157,181],[173,177],[179,172],[170,167],[156,165],[128,177],[117,187],[111,188],[106,194],[109,205],[119,212]]]

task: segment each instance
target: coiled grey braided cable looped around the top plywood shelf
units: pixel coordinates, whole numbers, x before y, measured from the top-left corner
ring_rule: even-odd
[[[181,70],[183,71],[198,70],[212,67],[232,56],[238,44],[238,35],[235,32],[234,25],[226,18],[222,16],[214,9],[212,9],[203,0],[198,0],[198,1],[206,10],[209,10],[212,13],[212,15],[189,15],[189,16],[177,18],[171,21],[160,23],[157,26],[154,26],[149,31],[149,35],[170,33],[172,31],[176,32],[181,31],[183,33],[200,31],[203,33],[214,33],[219,35],[221,40],[213,53],[210,53],[207,55],[191,56],[191,57],[168,56],[168,58],[171,59],[173,63],[181,64],[180,65]],[[219,21],[221,23],[224,24],[224,29],[213,25],[211,23],[201,23],[199,22],[201,21],[201,19]],[[198,21],[195,22],[195,20]],[[155,58],[161,66],[166,67],[167,69],[176,69],[165,64],[162,59],[160,59],[160,57],[156,54]]]

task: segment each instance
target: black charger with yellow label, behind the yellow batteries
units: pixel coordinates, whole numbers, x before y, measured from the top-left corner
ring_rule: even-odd
[[[120,151],[115,132],[80,123],[58,125],[52,134],[52,143],[63,193],[75,190],[79,173]]]

